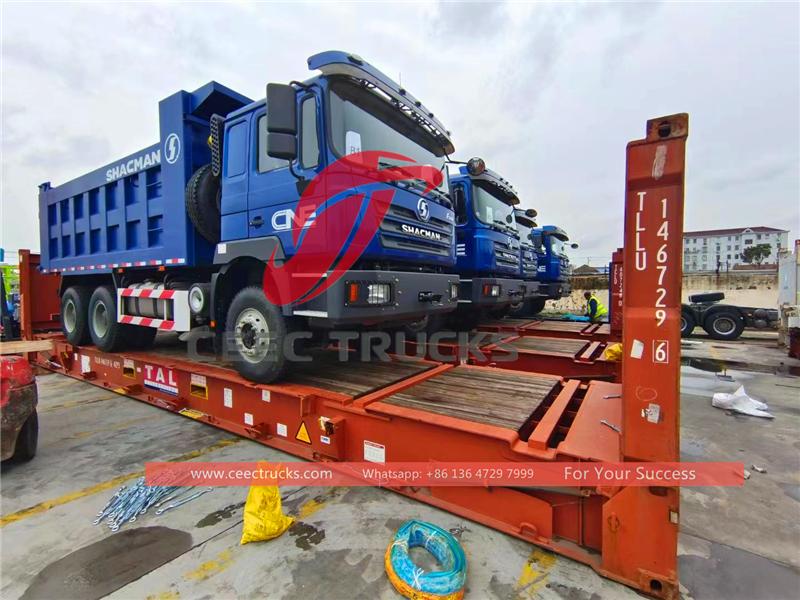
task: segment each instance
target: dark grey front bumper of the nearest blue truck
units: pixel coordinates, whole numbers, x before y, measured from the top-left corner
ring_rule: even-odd
[[[288,314],[325,327],[416,321],[455,310],[458,275],[405,271],[347,271],[324,294]]]

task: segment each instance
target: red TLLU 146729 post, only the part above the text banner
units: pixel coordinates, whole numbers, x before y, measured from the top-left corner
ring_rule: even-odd
[[[683,180],[689,116],[647,122],[628,144],[622,454],[679,458]]]

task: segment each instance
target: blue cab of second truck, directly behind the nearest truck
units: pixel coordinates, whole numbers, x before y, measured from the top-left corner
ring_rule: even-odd
[[[522,302],[527,288],[520,278],[517,193],[479,158],[450,176],[450,193],[461,279],[458,311],[473,319],[483,313],[502,314]]]

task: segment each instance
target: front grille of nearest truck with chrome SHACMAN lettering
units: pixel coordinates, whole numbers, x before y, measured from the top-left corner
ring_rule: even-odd
[[[450,256],[453,225],[435,217],[422,222],[413,210],[392,205],[381,223],[380,236],[384,248]]]

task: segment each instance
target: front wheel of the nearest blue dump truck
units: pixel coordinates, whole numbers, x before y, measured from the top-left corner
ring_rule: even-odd
[[[246,287],[234,296],[225,328],[226,355],[233,356],[242,377],[271,383],[286,373],[284,344],[290,327],[261,288]]]

